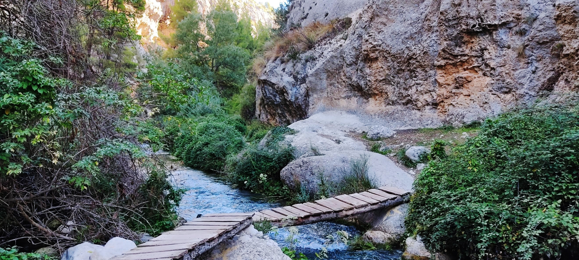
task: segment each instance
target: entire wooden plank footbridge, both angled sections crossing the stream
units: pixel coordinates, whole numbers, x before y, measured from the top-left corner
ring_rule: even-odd
[[[111,260],[192,260],[223,240],[233,237],[254,221],[271,221],[276,226],[292,226],[336,220],[400,205],[408,201],[409,196],[410,192],[398,188],[380,187],[320,199],[315,203],[300,203],[255,213],[205,214]]]

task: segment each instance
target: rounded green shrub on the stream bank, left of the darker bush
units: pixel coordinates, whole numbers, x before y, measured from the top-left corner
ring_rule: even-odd
[[[174,154],[192,168],[221,171],[228,155],[236,154],[243,148],[243,136],[239,129],[245,125],[234,125],[236,120],[215,117],[201,120],[186,120],[181,124],[175,138]]]

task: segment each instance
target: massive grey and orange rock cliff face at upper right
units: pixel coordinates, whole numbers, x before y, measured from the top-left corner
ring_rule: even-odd
[[[267,63],[260,120],[290,124],[337,109],[398,129],[434,127],[579,88],[574,0],[369,0],[355,15],[342,35]]]

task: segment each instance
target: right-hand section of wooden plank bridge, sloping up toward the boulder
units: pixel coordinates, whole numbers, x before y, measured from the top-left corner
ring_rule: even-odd
[[[276,207],[255,213],[254,221],[271,221],[275,226],[312,224],[337,220],[407,202],[410,192],[393,187],[380,187],[360,193],[339,195],[292,206]]]

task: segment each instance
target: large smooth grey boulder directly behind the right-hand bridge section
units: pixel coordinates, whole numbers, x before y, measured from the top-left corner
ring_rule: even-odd
[[[313,194],[318,192],[322,178],[329,185],[338,185],[350,174],[351,162],[366,157],[368,177],[376,185],[412,190],[412,177],[382,154],[359,150],[321,152],[324,155],[303,157],[290,162],[281,170],[281,180],[294,190],[305,185],[307,191]]]

